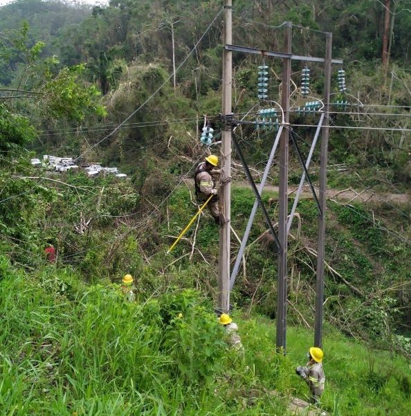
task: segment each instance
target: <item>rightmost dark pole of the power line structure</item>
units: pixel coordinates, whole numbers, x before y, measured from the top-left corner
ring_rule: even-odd
[[[322,307],[324,299],[324,261],[325,261],[325,209],[327,192],[327,158],[329,136],[329,93],[331,88],[331,52],[333,45],[332,33],[325,35],[325,69],[324,69],[324,123],[322,123],[321,156],[320,156],[320,202],[321,212],[318,216],[318,256],[316,282],[316,323],[314,329],[314,345],[322,345]]]

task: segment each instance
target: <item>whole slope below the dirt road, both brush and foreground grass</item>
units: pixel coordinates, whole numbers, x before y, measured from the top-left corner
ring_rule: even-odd
[[[190,187],[171,176],[158,187],[149,177],[138,193],[111,177],[49,177],[24,161],[13,169],[1,173],[3,414],[285,415],[291,395],[304,398],[294,368],[313,339],[311,199],[301,201],[291,231],[286,356],[275,354],[276,261],[257,215],[246,275],[232,293],[241,359],[226,349],[212,313],[217,226],[203,215],[164,255],[196,210]],[[23,173],[48,179],[16,178]],[[276,198],[263,195],[273,217]],[[235,186],[239,235],[252,205],[252,192]],[[408,207],[396,208],[329,201],[323,408],[334,415],[409,414],[410,256],[394,227],[407,235],[410,224],[401,215]],[[81,213],[93,219],[84,234],[75,232]],[[46,242],[57,249],[55,265],[45,265]],[[122,300],[124,273],[136,280],[135,304]]]

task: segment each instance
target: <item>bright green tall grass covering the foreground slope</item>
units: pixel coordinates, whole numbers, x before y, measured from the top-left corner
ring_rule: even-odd
[[[275,323],[235,320],[244,358],[200,292],[168,289],[123,300],[118,284],[89,285],[70,267],[24,273],[1,257],[0,408],[3,415],[287,415],[307,387],[312,331],[289,327],[288,354],[275,354]],[[408,362],[325,326],[333,415],[408,415]],[[277,390],[280,396],[273,395]]]

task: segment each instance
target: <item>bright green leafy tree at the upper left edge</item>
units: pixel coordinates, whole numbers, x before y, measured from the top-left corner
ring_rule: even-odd
[[[19,150],[33,141],[39,116],[80,122],[107,114],[100,91],[83,78],[84,65],[61,67],[55,56],[42,58],[44,43],[30,46],[28,29],[24,22],[19,30],[0,33],[0,67],[15,67],[14,77],[7,80],[10,85],[0,88],[1,150]],[[22,98],[29,100],[19,101]]]

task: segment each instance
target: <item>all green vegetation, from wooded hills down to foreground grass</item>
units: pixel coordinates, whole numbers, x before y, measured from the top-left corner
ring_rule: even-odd
[[[269,26],[291,20],[293,52],[322,56],[321,31],[333,30],[348,87],[338,93],[334,76],[333,100],[351,107],[337,106],[331,117],[329,186],[380,195],[328,202],[322,407],[334,415],[410,413],[409,3],[391,4],[390,59],[382,64],[380,1],[234,1],[233,43],[280,50],[282,28]],[[275,354],[276,262],[261,214],[232,293],[244,356],[227,349],[211,313],[219,235],[208,214],[164,255],[197,208],[191,178],[208,151],[199,141],[204,114],[219,134],[222,15],[189,53],[221,1],[90,8],[17,0],[0,10],[1,412],[286,414],[289,396],[306,393],[293,368],[313,332],[316,204],[302,199],[291,229],[286,356]],[[173,62],[186,58],[174,78]],[[236,116],[257,104],[261,62],[234,55]],[[277,100],[281,62],[268,64]],[[301,69],[293,64],[293,109],[305,100]],[[322,83],[322,67],[311,66],[313,97]],[[292,114],[291,123],[315,124],[316,116]],[[294,130],[307,154],[312,127]],[[258,179],[274,132],[235,134]],[[129,178],[57,176],[30,165],[43,153],[118,165]],[[233,161],[232,228],[241,237],[254,199]],[[291,185],[300,174],[291,150]],[[388,193],[408,196],[398,203]],[[275,190],[263,199],[275,222]],[[45,261],[47,244],[57,250],[55,264]],[[133,304],[120,294],[125,273],[135,278]]]

